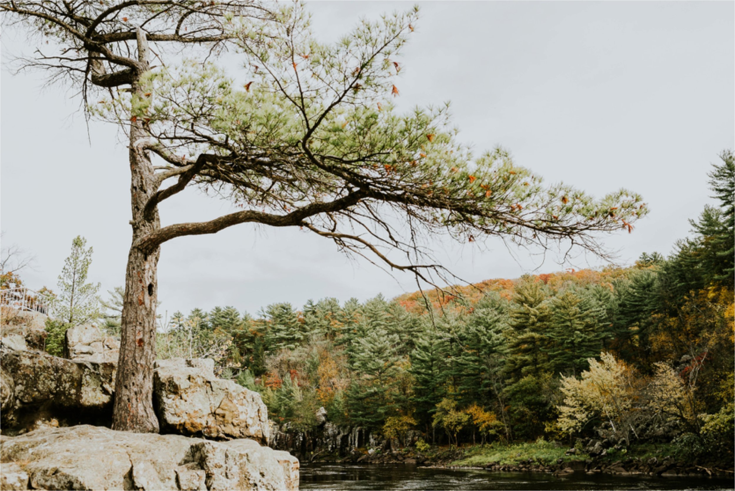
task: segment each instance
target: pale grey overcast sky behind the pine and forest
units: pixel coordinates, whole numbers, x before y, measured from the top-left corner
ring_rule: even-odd
[[[406,2],[309,2],[322,40],[360,16]],[[628,187],[650,215],[633,234],[606,239],[621,265],[643,251],[668,254],[709,198],[706,173],[735,143],[735,3],[429,2],[404,50],[398,103],[451,101],[461,138],[478,151],[502,145],[547,182],[595,196]],[[2,54],[28,49],[4,33]],[[3,246],[36,257],[22,275],[54,288],[71,240],[93,245],[90,279],[123,284],[131,231],[127,151],[115,128],[90,126],[78,100],[40,74],[1,73],[0,226]],[[188,190],[161,207],[162,223],[203,221],[228,203]],[[464,279],[517,278],[566,266],[498,241],[486,248],[437,241],[437,257]],[[599,266],[579,257],[574,266]],[[301,307],[334,296],[360,300],[416,290],[333,243],[296,230],[240,225],[162,246],[162,311],[233,305],[255,313],[277,301]]]

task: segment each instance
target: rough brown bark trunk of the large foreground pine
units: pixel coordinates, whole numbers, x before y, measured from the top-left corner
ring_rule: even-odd
[[[145,32],[138,30],[138,59],[148,68]],[[143,97],[140,76],[133,76],[132,91]],[[112,429],[157,433],[153,410],[153,368],[156,361],[156,299],[159,248],[146,254],[135,246],[137,240],[160,229],[158,210],[148,218],[145,208],[157,192],[157,179],[148,152],[137,145],[149,137],[143,118],[131,118],[129,161],[130,198],[133,228],[132,245],[125,274],[125,295],[121,321],[120,359],[115,379]]]

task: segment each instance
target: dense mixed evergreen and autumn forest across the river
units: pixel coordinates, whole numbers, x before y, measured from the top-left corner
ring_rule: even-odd
[[[668,257],[255,316],[193,308],[159,318],[157,353],[215,359],[290,431],[314,429],[323,407],[332,423],[401,443],[410,431],[423,445],[597,435],[731,462],[731,151],[709,178],[719,206],[690,220]]]

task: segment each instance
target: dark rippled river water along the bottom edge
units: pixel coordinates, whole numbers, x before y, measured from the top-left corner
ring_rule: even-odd
[[[301,490],[732,490],[732,479],[500,473],[415,465],[307,464]]]

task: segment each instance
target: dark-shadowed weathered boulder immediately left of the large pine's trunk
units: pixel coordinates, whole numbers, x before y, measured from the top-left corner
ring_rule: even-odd
[[[37,426],[109,424],[114,363],[73,362],[37,351],[0,348],[3,434]]]

